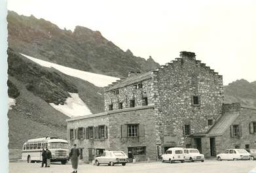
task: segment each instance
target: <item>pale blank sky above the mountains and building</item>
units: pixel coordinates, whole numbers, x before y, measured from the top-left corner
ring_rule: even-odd
[[[122,50],[164,65],[179,52],[223,75],[225,85],[256,81],[256,1],[8,0],[18,14],[44,18],[64,29],[100,31]]]

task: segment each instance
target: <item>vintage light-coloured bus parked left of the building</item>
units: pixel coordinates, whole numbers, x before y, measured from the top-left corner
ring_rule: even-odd
[[[22,160],[27,163],[42,161],[42,150],[48,148],[52,153],[51,162],[61,162],[65,165],[69,159],[68,142],[60,138],[35,138],[29,139],[23,144]]]

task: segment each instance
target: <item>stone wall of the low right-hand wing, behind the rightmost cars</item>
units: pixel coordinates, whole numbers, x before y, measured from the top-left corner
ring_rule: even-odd
[[[216,137],[217,153],[223,153],[228,148],[246,148],[249,144],[250,148],[256,148],[256,133],[249,133],[249,123],[256,122],[256,109],[244,108],[240,110],[240,116],[232,123],[232,125],[240,125],[242,127],[242,136],[234,138],[230,136],[230,128],[225,131],[222,136]]]

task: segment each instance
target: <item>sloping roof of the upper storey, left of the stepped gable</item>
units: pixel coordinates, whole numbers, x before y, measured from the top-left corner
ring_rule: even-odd
[[[151,71],[143,73],[143,74],[136,74],[134,76],[130,76],[128,78],[125,78],[124,80],[115,84],[115,86],[109,87],[106,91],[111,91],[113,89],[118,89],[118,88],[124,87],[124,86],[130,86],[132,84],[136,84],[137,82],[141,82],[143,80],[148,80],[150,78],[152,78]]]

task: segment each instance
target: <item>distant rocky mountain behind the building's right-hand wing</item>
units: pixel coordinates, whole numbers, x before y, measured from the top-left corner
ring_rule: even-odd
[[[224,87],[225,102],[240,102],[246,106],[256,107],[256,81],[241,79]]]

